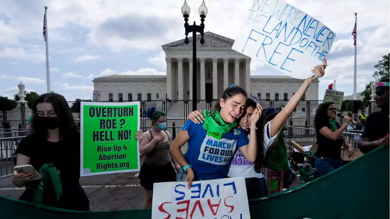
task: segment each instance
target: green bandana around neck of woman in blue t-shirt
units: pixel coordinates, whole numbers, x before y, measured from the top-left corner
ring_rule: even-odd
[[[219,111],[203,111],[204,122],[202,128],[207,132],[227,133],[236,127],[236,122],[226,123]]]

